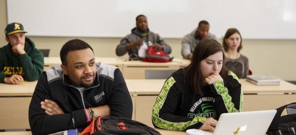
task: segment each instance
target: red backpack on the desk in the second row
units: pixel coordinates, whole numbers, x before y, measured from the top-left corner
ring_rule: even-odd
[[[162,50],[156,50],[152,46],[147,49],[146,57],[142,60],[145,62],[170,62],[174,57],[170,57]]]

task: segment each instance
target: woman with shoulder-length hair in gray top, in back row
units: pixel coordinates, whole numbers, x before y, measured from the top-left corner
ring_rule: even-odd
[[[247,78],[249,60],[239,53],[242,49],[242,36],[236,28],[229,28],[222,42],[225,51],[225,67],[234,72],[238,78]]]

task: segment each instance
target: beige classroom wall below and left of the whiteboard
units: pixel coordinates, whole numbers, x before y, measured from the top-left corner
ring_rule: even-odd
[[[2,31],[0,32],[0,47],[6,44],[4,35],[6,25],[6,0],[0,0],[0,31]],[[26,26],[24,27],[26,28]],[[127,31],[128,33],[129,31]],[[36,36],[30,38],[36,43],[38,49],[50,49],[49,56],[59,56],[59,51],[65,42],[73,38],[79,38],[89,43],[94,48],[95,55],[99,57],[116,57],[115,48],[121,39]],[[165,38],[164,40],[172,47],[171,56],[182,57],[180,38]],[[268,74],[278,76],[284,80],[296,81],[296,39],[247,39],[243,40],[243,45],[244,48],[241,53],[249,58],[250,67],[254,74]],[[123,57],[127,57],[127,55]]]

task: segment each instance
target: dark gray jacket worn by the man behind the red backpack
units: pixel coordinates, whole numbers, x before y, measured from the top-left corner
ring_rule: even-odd
[[[142,35],[140,32],[138,32],[137,27],[132,29],[132,33],[125,36],[121,41],[120,44],[116,47],[116,55],[122,56],[127,53],[126,45],[133,43],[139,39],[143,39],[148,46],[151,46],[155,43],[163,46],[163,51],[167,54],[171,54],[172,49],[171,47],[160,38],[160,36],[156,33],[153,33],[148,29],[148,34]],[[131,54],[137,54],[140,47],[133,47],[131,50],[128,51],[128,55]]]

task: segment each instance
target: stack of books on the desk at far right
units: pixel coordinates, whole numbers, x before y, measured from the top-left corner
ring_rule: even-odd
[[[279,85],[280,79],[275,76],[268,75],[249,75],[247,81],[256,85]]]

